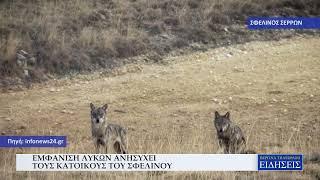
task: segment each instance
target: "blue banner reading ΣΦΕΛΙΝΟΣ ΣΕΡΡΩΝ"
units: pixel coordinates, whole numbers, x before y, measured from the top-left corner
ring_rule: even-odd
[[[320,29],[320,17],[249,17],[247,27],[259,29]]]

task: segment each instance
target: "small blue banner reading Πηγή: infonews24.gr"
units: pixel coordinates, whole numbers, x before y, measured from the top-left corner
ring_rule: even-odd
[[[66,136],[0,136],[0,147],[66,147]]]

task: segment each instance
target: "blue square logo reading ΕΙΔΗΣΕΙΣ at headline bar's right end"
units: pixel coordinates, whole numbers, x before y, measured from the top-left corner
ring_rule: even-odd
[[[302,154],[258,154],[259,171],[302,171]]]

